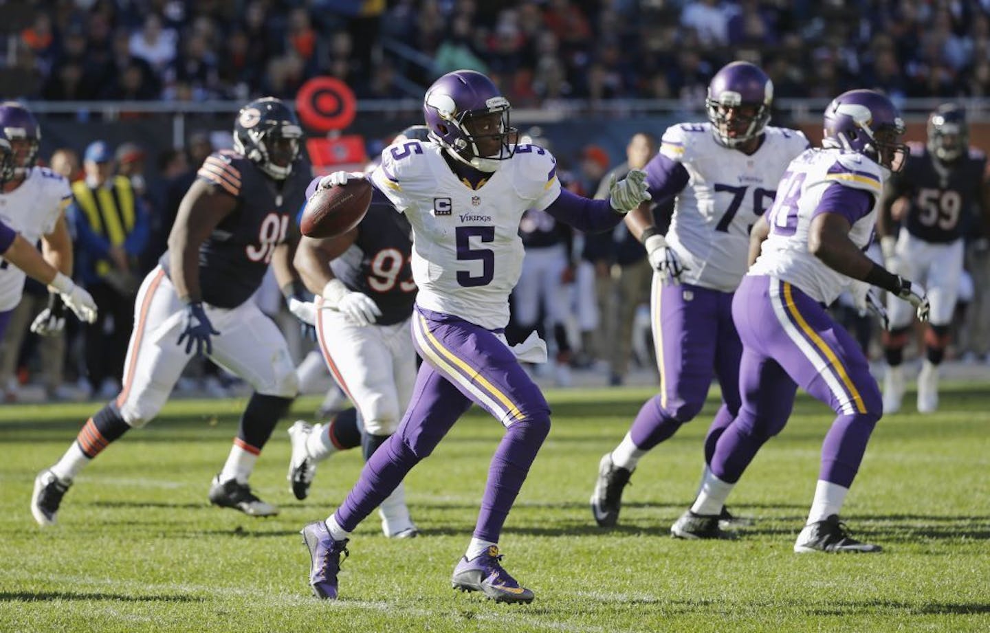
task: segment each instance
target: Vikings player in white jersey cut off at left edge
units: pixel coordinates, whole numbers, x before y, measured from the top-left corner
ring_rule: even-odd
[[[16,231],[0,263],[0,336],[21,302],[26,275],[49,284],[49,306],[35,318],[31,330],[53,336],[65,325],[65,298],[80,319],[92,322],[96,305],[72,283],[72,237],[65,207],[72,201],[68,181],[39,167],[42,129],[34,114],[20,103],[0,104],[0,221]],[[42,255],[35,244],[42,241]],[[11,266],[10,264],[14,264]],[[74,298],[73,298],[74,296]]]

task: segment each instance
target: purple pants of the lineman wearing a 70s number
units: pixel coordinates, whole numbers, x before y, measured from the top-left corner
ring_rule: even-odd
[[[664,286],[653,275],[653,345],[660,392],[647,400],[630,434],[642,450],[673,435],[705,404],[712,378],[722,387],[722,407],[705,438],[705,462],[740,407],[739,367],[743,344],[733,323],[733,293],[681,284]]]

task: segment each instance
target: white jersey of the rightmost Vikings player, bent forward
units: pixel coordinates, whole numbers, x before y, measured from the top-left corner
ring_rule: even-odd
[[[802,153],[780,181],[776,201],[766,218],[770,234],[749,274],[770,275],[797,286],[823,304],[834,302],[850,278],[829,268],[808,250],[811,221],[830,187],[850,187],[872,194],[869,212],[852,222],[849,230],[852,243],[865,250],[873,237],[883,179],[883,168],[860,153],[818,148]]]

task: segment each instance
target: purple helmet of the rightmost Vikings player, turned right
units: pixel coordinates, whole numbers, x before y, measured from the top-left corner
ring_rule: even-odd
[[[904,121],[890,99],[875,90],[849,90],[825,110],[824,147],[855,151],[891,171],[904,167]]]

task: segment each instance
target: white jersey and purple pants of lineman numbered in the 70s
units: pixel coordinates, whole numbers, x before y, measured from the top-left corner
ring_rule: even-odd
[[[711,123],[680,124],[664,133],[659,153],[646,165],[646,182],[660,206],[673,199],[666,240],[686,270],[679,285],[653,276],[660,391],[630,429],[637,448],[652,448],[697,415],[713,375],[723,398],[713,426],[724,428],[739,410],[743,348],[732,299],[745,272],[749,229],[773,202],[784,169],[807,147],[802,133],[774,127],[764,129],[751,154],[719,142]]]

